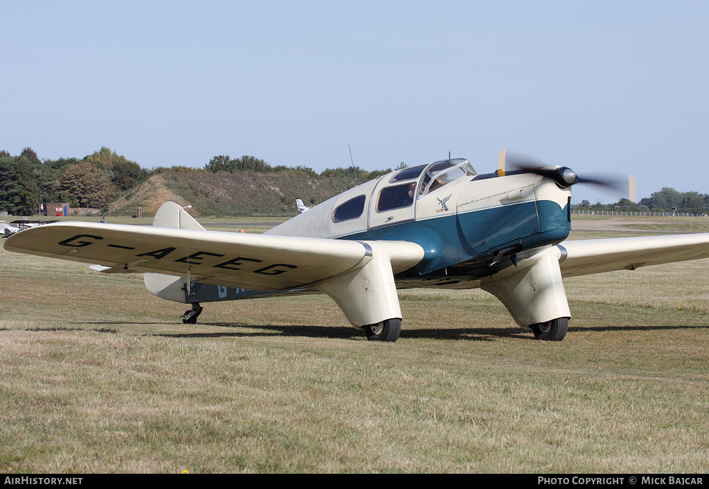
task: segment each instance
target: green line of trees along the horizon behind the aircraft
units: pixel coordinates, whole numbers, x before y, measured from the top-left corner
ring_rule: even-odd
[[[401,162],[397,169],[406,168]],[[38,155],[26,147],[17,156],[0,150],[0,211],[6,210],[11,215],[34,215],[40,204],[67,202],[69,206],[79,208],[104,208],[120,193],[125,193],[140,185],[150,175],[173,171],[182,173],[211,172],[296,172],[301,176],[332,179],[347,179],[360,184],[381,176],[391,169],[367,170],[359,167],[325,169],[318,174],[312,168],[297,166],[272,167],[263,159],[253,156],[231,158],[220,154],[213,157],[203,168],[158,167],[146,170],[136,162],[117,154],[108,147],[85,157],[40,160]],[[698,192],[679,192],[663,188],[642,198],[640,202],[631,202],[627,198],[612,204],[591,204],[581,201],[574,206],[592,210],[632,210],[665,211],[702,215],[709,213],[709,194]]]

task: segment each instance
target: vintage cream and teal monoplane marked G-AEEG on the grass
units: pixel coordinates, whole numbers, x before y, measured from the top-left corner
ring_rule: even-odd
[[[398,169],[262,235],[205,230],[164,203],[152,227],[66,222],[12,235],[13,252],[143,273],[155,296],[191,304],[326,293],[372,340],[401,332],[398,288],[483,288],[539,339],[564,338],[565,276],[709,257],[709,233],[564,241],[567,167],[477,174],[467,159]]]

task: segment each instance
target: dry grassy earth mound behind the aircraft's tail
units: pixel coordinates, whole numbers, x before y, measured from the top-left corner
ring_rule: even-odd
[[[306,206],[328,200],[356,184],[351,177],[307,174],[298,169],[281,172],[211,173],[165,171],[150,176],[137,189],[125,193],[108,206],[109,215],[155,215],[165,201],[191,205],[197,217],[226,215],[296,214],[296,198]]]

